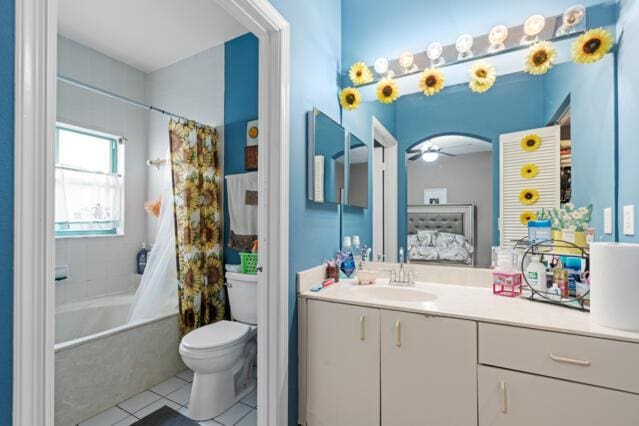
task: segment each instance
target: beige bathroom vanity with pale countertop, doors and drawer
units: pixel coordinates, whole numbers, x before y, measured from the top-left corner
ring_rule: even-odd
[[[639,424],[639,333],[585,312],[341,280],[300,285],[299,321],[302,425]]]

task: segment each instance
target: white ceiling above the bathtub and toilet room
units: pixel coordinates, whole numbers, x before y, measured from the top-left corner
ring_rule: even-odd
[[[58,32],[148,73],[247,31],[213,0],[59,0]]]

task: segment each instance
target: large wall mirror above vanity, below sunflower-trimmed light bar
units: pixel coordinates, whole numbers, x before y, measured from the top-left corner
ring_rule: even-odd
[[[516,54],[520,64],[525,51]],[[499,56],[489,60],[500,63]],[[455,65],[464,77],[447,79],[434,96],[402,91],[384,105],[362,89],[364,102],[344,111],[342,124],[375,147],[372,123],[380,122],[396,140],[397,171],[389,176],[373,162],[372,191],[382,195],[366,211],[344,210],[343,234],[360,235],[389,260],[396,253],[375,247],[384,241],[379,233],[386,242],[392,235],[414,262],[488,267],[492,246],[525,236],[542,208],[572,203],[592,206],[595,240],[615,241],[614,53],[587,65],[560,56],[543,75],[503,65],[484,93],[469,88],[473,61]],[[452,75],[455,66],[443,70]],[[376,191],[383,173],[396,184]],[[374,218],[388,212],[389,191],[396,191],[397,223],[386,224],[386,214],[380,225]],[[606,209],[613,210],[604,220]]]

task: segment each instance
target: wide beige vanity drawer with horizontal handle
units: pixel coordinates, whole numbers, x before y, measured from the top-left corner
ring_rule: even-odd
[[[639,344],[479,324],[479,362],[639,393]]]

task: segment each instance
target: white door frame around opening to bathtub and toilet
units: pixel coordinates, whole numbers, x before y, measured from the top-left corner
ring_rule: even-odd
[[[211,1],[260,41],[258,424],[281,425],[288,423],[290,29],[265,0]],[[15,6],[13,425],[53,426],[57,0]]]

